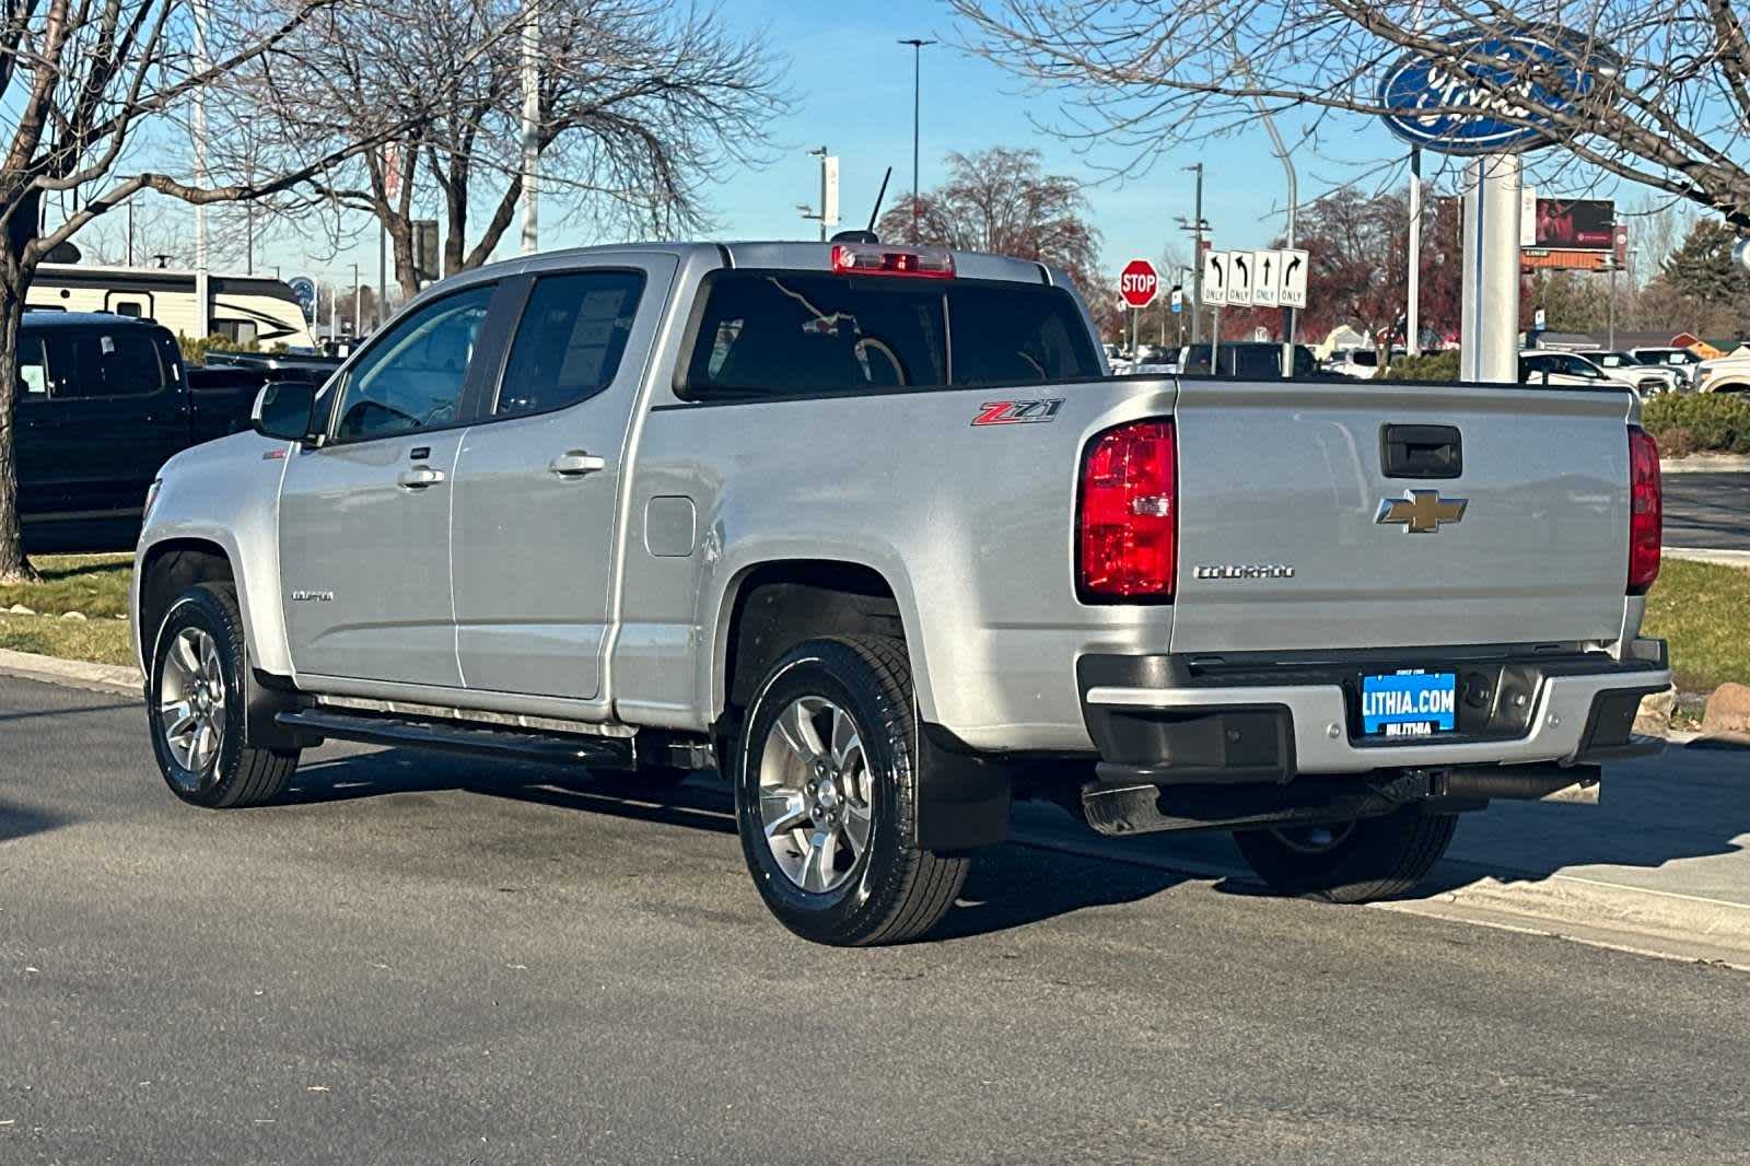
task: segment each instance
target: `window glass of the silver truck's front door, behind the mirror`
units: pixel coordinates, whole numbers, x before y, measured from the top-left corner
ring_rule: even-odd
[[[392,438],[452,424],[494,285],[469,287],[396,324],[341,389],[338,441]]]

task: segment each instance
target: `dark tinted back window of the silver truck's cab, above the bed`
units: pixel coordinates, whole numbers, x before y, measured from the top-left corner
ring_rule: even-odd
[[[1092,380],[1060,287],[791,271],[710,277],[682,394],[808,396]]]

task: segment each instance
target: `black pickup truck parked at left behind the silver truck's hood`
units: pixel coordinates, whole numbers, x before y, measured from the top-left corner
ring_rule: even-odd
[[[26,312],[16,420],[24,550],[131,550],[173,453],[248,429],[259,368],[186,368],[170,329],[122,315]]]

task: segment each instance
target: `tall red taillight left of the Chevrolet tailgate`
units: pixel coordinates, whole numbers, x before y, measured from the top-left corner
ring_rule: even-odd
[[[1076,522],[1083,599],[1171,601],[1178,511],[1172,422],[1132,422],[1094,438]]]

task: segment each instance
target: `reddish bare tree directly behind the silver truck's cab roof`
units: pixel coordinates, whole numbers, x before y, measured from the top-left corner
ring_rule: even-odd
[[[1088,222],[1087,196],[1078,180],[1045,173],[1038,151],[948,154],[948,180],[917,203],[920,242],[1045,259],[1087,298],[1099,296],[1099,231]],[[912,219],[906,198],[882,215],[880,235],[908,238]]]

